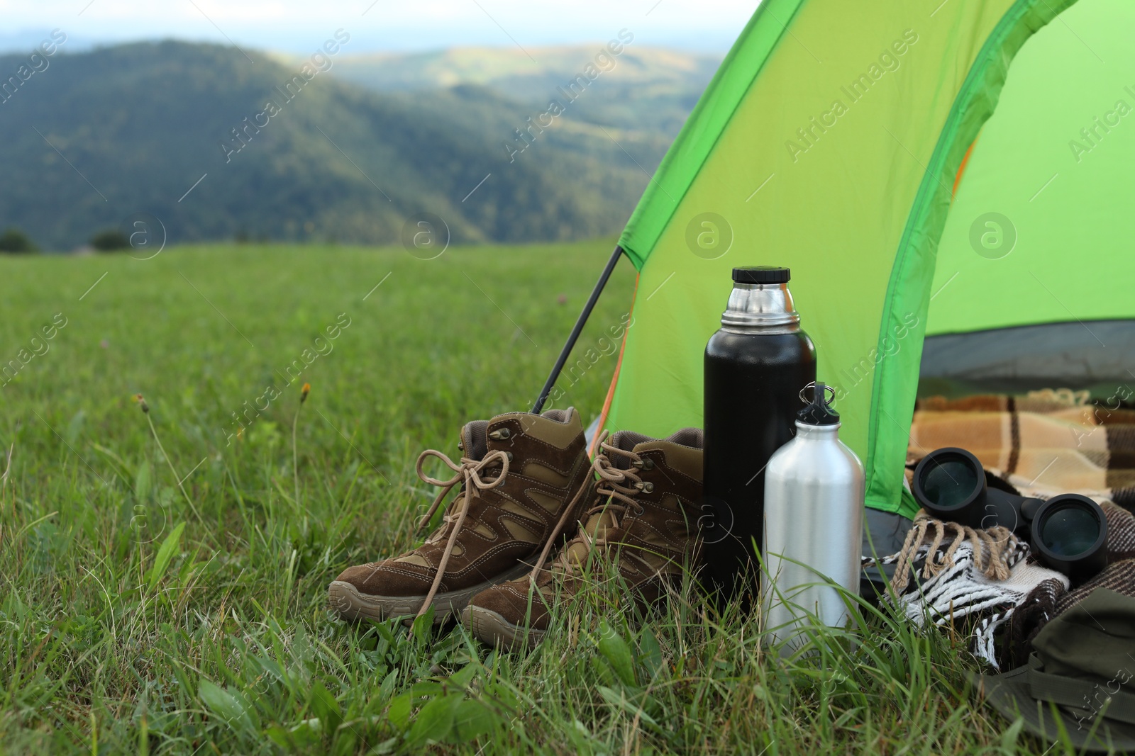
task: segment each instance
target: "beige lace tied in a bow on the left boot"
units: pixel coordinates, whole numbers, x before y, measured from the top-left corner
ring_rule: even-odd
[[[422,464],[426,461],[427,457],[437,457],[440,459],[446,467],[454,472],[453,477],[442,481],[435,477],[430,477],[422,470]],[[490,469],[496,468],[499,465],[499,470]],[[442,578],[445,576],[445,568],[449,564],[449,555],[453,553],[453,546],[457,542],[457,534],[461,533],[461,528],[465,524],[465,516],[469,515],[469,508],[472,504],[473,499],[477,498],[478,491],[486,491],[493,489],[504,483],[505,477],[508,475],[508,456],[503,451],[490,451],[482,459],[470,459],[468,457],[461,458],[461,464],[457,465],[445,453],[437,451],[435,449],[427,449],[418,457],[418,477],[421,478],[423,483],[429,483],[430,485],[440,486],[442,491],[434,499],[434,503],[422,516],[421,521],[418,523],[418,530],[421,532],[426,529],[429,525],[430,519],[432,519],[434,513],[437,512],[437,508],[442,504],[453,487],[461,484],[464,491],[463,496],[459,496],[461,500],[460,506],[455,506],[457,499],[454,499],[454,504],[449,507],[449,511],[445,513],[445,518],[442,520],[442,525],[434,532],[430,537],[426,540],[426,543],[436,544],[442,541],[446,541],[445,551],[442,552],[442,559],[437,564],[437,570],[434,574],[434,584],[430,586],[429,593],[426,594],[426,601],[422,602],[422,608],[418,610],[418,617],[421,617],[434,603],[434,596],[437,595],[438,586],[442,585]],[[495,474],[491,478],[482,477],[484,473]],[[451,527],[452,526],[452,527]]]

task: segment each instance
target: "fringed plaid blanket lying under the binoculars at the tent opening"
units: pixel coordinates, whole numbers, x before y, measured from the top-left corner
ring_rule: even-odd
[[[905,552],[920,555],[922,564],[949,571],[934,574],[930,584],[903,586],[897,600],[911,610],[930,611],[930,601],[942,588],[934,583],[956,584],[950,597],[951,619],[961,613],[980,617],[972,651],[994,666],[1024,664],[1032,640],[1052,618],[1083,601],[1099,587],[1135,596],[1135,409],[1127,404],[1132,390],[1120,387],[1107,400],[1091,401],[1087,392],[1034,391],[1024,397],[984,394],[964,399],[932,397],[915,408],[907,450],[907,475],[928,452],[942,447],[967,449],[987,473],[1023,495],[1048,499],[1079,493],[1098,501],[1108,517],[1108,567],[1079,586],[1017,553],[984,553],[989,544],[974,541],[973,557],[948,553],[950,542],[931,542],[928,533],[911,530]],[[909,479],[908,479],[909,482]],[[924,515],[922,517],[925,517]],[[931,520],[935,523],[935,520]],[[925,528],[924,528],[925,530]],[[955,538],[959,543],[962,537]],[[1010,540],[1014,541],[1014,540]],[[941,544],[941,545],[940,545]],[[953,546],[953,549],[958,549]],[[973,551],[973,550],[970,550]],[[896,555],[898,558],[899,555]],[[1010,577],[1001,579],[991,569],[975,570],[967,560],[1004,560]],[[923,577],[930,577],[924,571]],[[984,575],[982,574],[984,571]],[[1031,579],[1023,580],[1027,571]],[[1045,575],[1048,572],[1048,575]],[[1020,586],[1027,585],[1027,593]],[[967,612],[966,608],[974,611]],[[942,623],[941,620],[939,623]],[[995,634],[995,640],[994,640]]]

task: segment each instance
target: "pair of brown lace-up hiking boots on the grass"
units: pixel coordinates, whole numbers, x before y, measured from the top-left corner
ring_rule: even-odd
[[[574,408],[508,413],[461,430],[461,461],[427,450],[418,475],[442,491],[428,525],[460,486],[440,526],[418,549],[351,567],[331,583],[331,609],[348,620],[459,615],[481,640],[533,646],[552,610],[613,566],[639,605],[699,559],[701,431],[666,439],[602,436],[595,461]],[[453,476],[427,475],[430,458]],[[562,543],[552,555],[553,547]]]

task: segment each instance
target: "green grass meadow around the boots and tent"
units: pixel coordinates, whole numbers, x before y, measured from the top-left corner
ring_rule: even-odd
[[[0,260],[0,363],[66,317],[0,389],[0,751],[1042,753],[970,703],[962,638],[885,614],[781,660],[690,588],[645,622],[587,592],[514,655],[326,611],[339,570],[414,543],[420,450],[531,404],[609,246]],[[592,417],[614,360],[560,406]]]

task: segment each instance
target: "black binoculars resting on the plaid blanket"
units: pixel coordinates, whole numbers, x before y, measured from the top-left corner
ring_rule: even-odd
[[[1012,530],[1041,563],[1074,580],[1095,575],[1108,562],[1108,519],[1098,503],[1077,493],[1045,501],[990,489],[982,464],[965,449],[938,449],[923,457],[911,492],[940,520]]]

